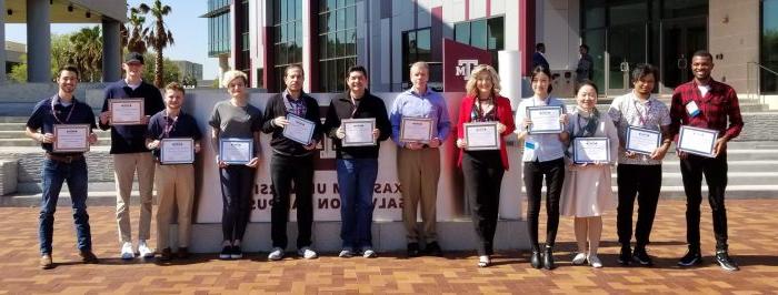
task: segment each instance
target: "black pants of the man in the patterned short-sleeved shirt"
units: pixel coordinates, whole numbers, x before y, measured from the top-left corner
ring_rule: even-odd
[[[657,214],[657,203],[661,190],[661,165],[619,164],[616,173],[619,186],[619,206],[616,216],[619,243],[622,246],[629,246],[632,240],[632,212],[637,197],[636,248],[645,248],[649,243],[654,217]]]

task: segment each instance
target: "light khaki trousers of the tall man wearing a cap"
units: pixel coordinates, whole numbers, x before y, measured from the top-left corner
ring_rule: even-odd
[[[130,194],[132,179],[138,172],[138,191],[140,192],[140,223],[138,240],[149,240],[151,227],[151,202],[154,180],[154,162],[151,152],[113,155],[113,176],[117,186],[117,224],[120,242],[132,242],[130,226]]]

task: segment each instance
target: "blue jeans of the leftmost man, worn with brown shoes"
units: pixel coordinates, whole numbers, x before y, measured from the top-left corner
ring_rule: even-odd
[[[87,214],[87,161],[81,157],[70,163],[53,160],[43,160],[41,173],[43,179],[43,199],[40,202],[40,226],[38,238],[40,253],[51,254],[51,241],[53,236],[54,212],[62,183],[68,182],[70,199],[73,204],[73,220],[76,223],[76,236],[80,251],[92,250],[92,236],[89,228],[89,214]]]

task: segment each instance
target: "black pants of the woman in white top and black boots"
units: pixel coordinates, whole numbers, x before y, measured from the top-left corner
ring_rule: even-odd
[[[527,232],[532,251],[539,251],[538,215],[542,199],[542,184],[546,177],[546,245],[553,246],[559,227],[559,196],[565,183],[565,160],[525,162],[523,180],[527,187]]]

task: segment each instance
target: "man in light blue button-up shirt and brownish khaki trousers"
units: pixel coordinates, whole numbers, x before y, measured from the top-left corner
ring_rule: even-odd
[[[397,173],[402,185],[402,220],[408,238],[408,256],[420,255],[419,242],[423,240],[429,255],[442,256],[436,233],[436,204],[440,177],[438,146],[451,131],[446,101],[440,93],[430,90],[429,65],[413,63],[410,68],[410,90],[397,95],[391,108],[391,138],[397,143]],[[406,141],[401,136],[403,118],[431,120],[429,141]],[[422,226],[416,224],[417,206],[421,204]]]

